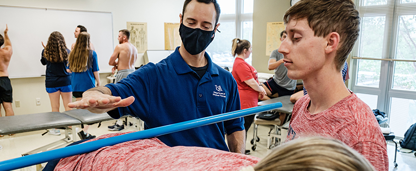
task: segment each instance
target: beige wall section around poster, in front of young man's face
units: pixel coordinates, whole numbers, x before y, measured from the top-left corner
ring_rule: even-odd
[[[290,0],[254,0],[253,9],[253,62],[257,72],[269,71],[266,56],[266,24],[267,22],[282,22],[283,15],[290,8]]]

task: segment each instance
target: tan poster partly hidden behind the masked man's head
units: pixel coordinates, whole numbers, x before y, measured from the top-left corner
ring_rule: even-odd
[[[164,49],[175,50],[182,44],[181,36],[179,36],[179,23],[164,23]]]

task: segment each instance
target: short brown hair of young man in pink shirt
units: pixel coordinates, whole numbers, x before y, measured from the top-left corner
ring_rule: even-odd
[[[307,19],[314,35],[325,37],[331,32],[340,35],[335,56],[338,71],[344,66],[347,55],[358,38],[360,16],[352,0],[300,0],[286,11],[285,24],[289,20]]]

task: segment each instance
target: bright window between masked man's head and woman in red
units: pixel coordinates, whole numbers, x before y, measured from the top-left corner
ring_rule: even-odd
[[[218,30],[207,48],[207,53],[215,64],[232,67],[231,45],[234,38],[253,40],[254,0],[217,0],[221,8]],[[251,64],[252,57],[246,59]]]

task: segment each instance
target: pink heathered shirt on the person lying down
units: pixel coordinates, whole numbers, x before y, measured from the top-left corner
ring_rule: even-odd
[[[125,133],[106,134],[90,141],[121,134]],[[239,171],[258,161],[254,156],[223,150],[168,147],[159,139],[150,138],[63,158],[54,171]]]

